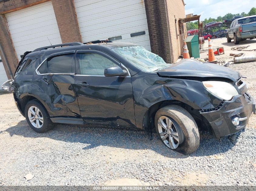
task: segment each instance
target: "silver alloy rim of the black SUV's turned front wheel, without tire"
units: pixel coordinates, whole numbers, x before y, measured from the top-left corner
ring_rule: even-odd
[[[158,132],[165,145],[171,149],[177,148],[185,140],[184,132],[180,126],[167,116],[159,117]]]

